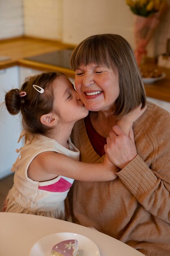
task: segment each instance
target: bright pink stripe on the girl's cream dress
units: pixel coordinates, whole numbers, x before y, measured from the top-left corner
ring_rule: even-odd
[[[48,186],[38,186],[38,189],[50,192],[65,192],[70,189],[71,186],[72,184],[70,182],[61,177],[60,180],[58,180],[54,184]]]

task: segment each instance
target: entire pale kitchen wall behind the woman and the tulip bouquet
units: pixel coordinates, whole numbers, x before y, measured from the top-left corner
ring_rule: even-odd
[[[135,48],[133,15],[125,0],[0,0],[0,39],[25,34],[77,44],[98,33],[120,34]],[[165,52],[168,38],[170,8],[148,45],[148,55]]]

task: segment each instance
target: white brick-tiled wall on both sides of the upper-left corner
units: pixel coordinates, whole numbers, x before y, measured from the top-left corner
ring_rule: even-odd
[[[0,0],[0,39],[62,40],[62,0]]]

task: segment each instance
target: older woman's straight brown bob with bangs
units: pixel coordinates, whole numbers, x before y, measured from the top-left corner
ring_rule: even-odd
[[[129,43],[116,34],[93,35],[83,40],[74,49],[71,67],[95,63],[112,68],[119,75],[119,97],[115,102],[117,118],[130,112],[142,103],[146,105],[146,92],[139,67]]]

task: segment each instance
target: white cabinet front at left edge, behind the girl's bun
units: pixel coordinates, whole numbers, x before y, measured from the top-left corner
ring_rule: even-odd
[[[0,70],[0,103],[4,102],[5,92],[19,88],[18,66]],[[16,148],[22,130],[20,115],[12,116],[6,106],[0,106],[0,179],[11,174],[11,167],[18,157]]]

